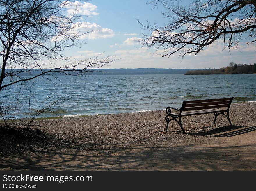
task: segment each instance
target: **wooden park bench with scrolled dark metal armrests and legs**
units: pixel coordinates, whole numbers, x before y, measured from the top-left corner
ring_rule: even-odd
[[[230,108],[233,98],[234,97],[183,101],[180,109],[173,108],[173,107],[167,107],[165,110],[167,113],[167,115],[165,116],[166,131],[168,129],[169,122],[171,120],[174,120],[179,124],[183,133],[185,133],[185,131],[182,127],[182,123],[181,123],[182,116],[201,115],[201,114],[207,114],[207,113],[214,114],[214,116],[215,116],[214,122],[213,122],[214,124],[216,122],[217,116],[222,114],[227,117],[228,122],[230,123],[230,125],[232,125],[230,118],[229,118],[229,108]],[[179,112],[171,113],[172,109],[177,110]],[[225,113],[227,113],[227,114],[225,114]],[[179,118],[179,121],[176,118]]]

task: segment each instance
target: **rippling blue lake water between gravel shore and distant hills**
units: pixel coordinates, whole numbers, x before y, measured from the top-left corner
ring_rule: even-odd
[[[17,106],[9,116],[26,117],[61,98],[39,117],[96,115],[180,108],[183,100],[232,97],[256,100],[256,75],[91,75],[40,78],[1,92],[0,105]],[[30,91],[31,88],[31,91]],[[29,92],[31,99],[29,104]],[[6,96],[11,96],[6,99]],[[19,102],[17,98],[19,97]],[[46,99],[49,98],[48,103]],[[53,113],[54,112],[54,113]],[[18,114],[14,114],[18,113]]]

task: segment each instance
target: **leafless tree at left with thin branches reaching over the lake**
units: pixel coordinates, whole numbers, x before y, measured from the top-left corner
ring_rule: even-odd
[[[79,60],[65,56],[66,49],[84,43],[82,35],[93,32],[79,30],[81,15],[74,2],[0,0],[0,91],[56,72],[82,75],[115,60],[110,56]],[[40,72],[34,74],[35,69]]]

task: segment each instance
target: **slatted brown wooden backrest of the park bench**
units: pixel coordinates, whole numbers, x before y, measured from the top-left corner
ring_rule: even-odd
[[[223,107],[227,107],[229,109],[233,98],[234,97],[183,101],[180,110],[191,111],[191,110],[204,110],[204,109],[214,109],[214,108],[218,109]]]

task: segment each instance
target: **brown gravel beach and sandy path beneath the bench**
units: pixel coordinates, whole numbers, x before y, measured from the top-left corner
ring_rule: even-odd
[[[164,110],[35,121],[42,139],[1,137],[1,170],[256,170],[256,102],[223,115]]]

